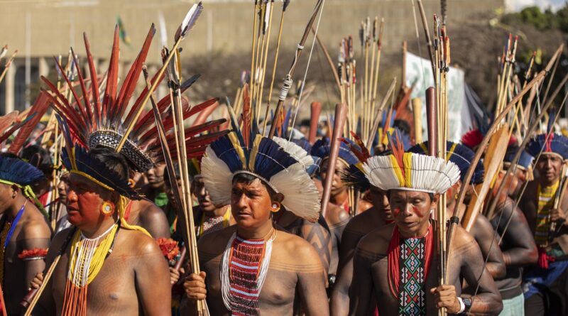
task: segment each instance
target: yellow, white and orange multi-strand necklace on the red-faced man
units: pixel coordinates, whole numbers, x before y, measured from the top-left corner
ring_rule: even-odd
[[[104,260],[111,254],[119,229],[120,224],[115,223],[94,239],[85,237],[79,230],[75,233],[65,282],[62,315],[84,316],[87,314],[88,285],[97,277]]]

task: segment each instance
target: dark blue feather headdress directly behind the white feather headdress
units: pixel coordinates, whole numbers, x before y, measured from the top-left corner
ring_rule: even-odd
[[[420,153],[422,155],[427,155],[428,152],[428,141],[424,143],[419,143],[408,150],[410,153]],[[471,160],[474,159],[475,153],[471,149],[459,143],[453,143],[452,141],[446,142],[446,159],[455,163],[459,168],[459,173],[461,174],[460,180],[463,181],[469,166],[471,165]],[[471,177],[471,184],[479,184],[484,181],[484,165],[483,163],[477,163],[474,171],[474,175]]]

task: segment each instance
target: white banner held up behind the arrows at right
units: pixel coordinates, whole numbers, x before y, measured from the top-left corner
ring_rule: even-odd
[[[430,60],[417,55],[406,54],[406,85],[416,82],[410,99],[422,99],[422,129],[424,139],[427,139],[426,120],[426,89],[434,87],[434,77]],[[471,116],[466,103],[465,74],[463,70],[454,67],[448,72],[448,141],[459,142],[461,135],[471,129]]]

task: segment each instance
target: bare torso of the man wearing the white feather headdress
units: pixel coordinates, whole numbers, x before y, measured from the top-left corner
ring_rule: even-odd
[[[354,255],[353,278],[357,286],[351,288],[349,315],[366,315],[373,301],[376,302],[380,315],[398,314],[398,300],[391,293],[387,277],[387,249],[394,225],[389,224],[382,229],[371,231],[361,239],[357,246]],[[427,315],[437,314],[435,298],[430,293],[430,289],[438,285],[437,258],[433,256],[424,285]],[[476,307],[482,312],[472,315],[498,315],[501,311],[501,296],[491,276],[484,271],[479,246],[474,242],[473,237],[461,228],[457,229],[448,262],[447,284],[456,287],[457,295],[461,293],[461,277],[468,283],[477,285],[476,280],[481,275],[479,291],[474,304],[478,304]],[[371,293],[374,293],[374,297],[371,297]]]

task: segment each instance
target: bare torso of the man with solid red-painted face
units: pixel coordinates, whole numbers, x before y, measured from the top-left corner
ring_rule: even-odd
[[[48,262],[53,261],[70,229],[55,236]],[[38,315],[61,315],[70,246],[48,284]],[[119,229],[114,249],[88,285],[87,315],[166,315],[170,312],[168,263],[157,244],[139,231]],[[38,308],[36,308],[38,311]]]

